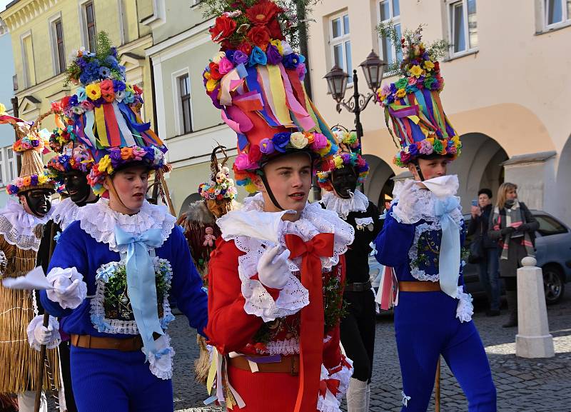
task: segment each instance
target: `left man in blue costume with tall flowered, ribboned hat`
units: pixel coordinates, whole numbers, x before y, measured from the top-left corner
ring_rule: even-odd
[[[166,328],[174,317],[168,296],[173,294],[190,325],[202,333],[206,293],[176,218],[145,199],[148,175],[163,168],[166,147],[136,114],[140,91],[124,83],[116,51],[107,54],[100,60],[105,70],[91,71],[101,78],[79,79],[90,85],[98,81],[101,96],[91,95],[94,89],[87,86],[75,96],[86,93],[91,107],[74,106],[74,96],[63,104],[80,138],[95,143],[90,149],[96,164],[88,180],[95,194],[108,199],[82,207],[78,220],[61,233],[47,276],[54,289],[42,291],[41,302],[52,315],[65,317],[61,328],[71,335],[79,411],[173,411],[174,351]],[[74,63],[79,59],[81,66],[96,61],[85,51]],[[111,86],[104,83],[106,76]],[[105,99],[98,101],[103,90]],[[101,107],[104,116],[94,116]],[[96,123],[90,129],[91,121]],[[99,134],[103,131],[108,134]]]

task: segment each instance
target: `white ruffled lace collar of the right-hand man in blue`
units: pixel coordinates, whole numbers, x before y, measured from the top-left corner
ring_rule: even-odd
[[[398,199],[394,200],[396,205],[393,207],[391,216],[399,223],[406,224],[413,224],[422,219],[440,222],[440,218],[435,215],[435,201],[437,200],[433,192],[413,185],[410,192],[400,193]],[[462,208],[458,207],[450,213],[450,216],[460,226],[463,219]]]

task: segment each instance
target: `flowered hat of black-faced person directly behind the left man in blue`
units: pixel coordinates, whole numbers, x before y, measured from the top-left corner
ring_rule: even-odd
[[[95,161],[87,146],[78,141],[73,121],[64,116],[59,102],[52,104],[52,109],[55,111],[56,129],[51,133],[49,146],[56,156],[49,159],[46,167],[51,176],[63,185],[67,172],[77,170],[89,174]]]

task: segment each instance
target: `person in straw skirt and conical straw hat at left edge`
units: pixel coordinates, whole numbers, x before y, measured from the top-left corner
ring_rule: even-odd
[[[3,105],[0,108],[0,123],[11,124],[16,129],[18,139],[12,149],[21,156],[22,165],[20,176],[6,187],[6,191],[11,196],[24,196],[32,213],[38,213],[28,213],[21,203],[12,199],[0,211],[1,278],[24,276],[36,267],[44,225],[50,218],[51,201],[46,201],[46,213],[40,213],[34,208],[35,201],[31,197],[33,193],[41,192],[49,199],[56,187],[56,182],[46,174],[41,160],[47,139],[43,131],[38,131],[38,126],[44,116],[32,125],[7,115]],[[28,326],[33,319],[41,322],[42,316],[38,314],[34,291],[9,289],[0,285],[0,369],[4,371],[0,376],[0,393],[18,393],[21,411],[31,411],[34,406],[33,391],[36,389],[39,353],[29,344],[35,324],[31,329]],[[57,326],[53,318],[51,323]],[[44,386],[57,388],[59,362],[57,352],[53,349],[55,346],[47,351],[49,367],[46,368]],[[28,409],[30,398],[31,406]]]

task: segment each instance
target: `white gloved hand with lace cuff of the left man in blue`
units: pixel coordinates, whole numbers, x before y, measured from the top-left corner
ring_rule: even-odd
[[[61,308],[75,309],[87,296],[87,284],[84,282],[84,276],[73,268],[52,268],[46,276],[47,281],[54,286],[58,283],[58,288],[48,289],[46,291],[50,301],[59,303]],[[79,285],[71,288],[70,285],[78,280]],[[67,286],[64,288],[64,286]],[[55,286],[54,286],[55,287]]]

